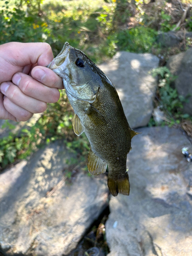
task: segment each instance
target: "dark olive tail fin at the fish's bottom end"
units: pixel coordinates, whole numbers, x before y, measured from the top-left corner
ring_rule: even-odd
[[[130,194],[130,182],[129,176],[126,173],[125,177],[115,180],[113,178],[108,177],[108,187],[111,194],[116,197],[118,193],[123,194],[125,196],[129,196]]]

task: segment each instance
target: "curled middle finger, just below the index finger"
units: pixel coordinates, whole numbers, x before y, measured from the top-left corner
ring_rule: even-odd
[[[54,103],[59,100],[60,93],[56,88],[50,88],[23,73],[16,73],[12,82],[25,94],[40,101]]]

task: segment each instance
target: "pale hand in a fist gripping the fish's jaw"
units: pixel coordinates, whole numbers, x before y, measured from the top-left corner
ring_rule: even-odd
[[[45,42],[0,45],[0,119],[27,121],[57,102],[62,79],[46,68],[53,60]]]

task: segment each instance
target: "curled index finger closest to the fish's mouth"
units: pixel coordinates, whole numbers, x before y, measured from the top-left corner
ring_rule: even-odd
[[[64,89],[62,78],[56,75],[51,69],[37,66],[31,71],[31,75],[34,79],[48,87]]]

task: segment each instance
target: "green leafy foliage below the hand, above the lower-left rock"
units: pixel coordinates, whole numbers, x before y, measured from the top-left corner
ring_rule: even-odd
[[[40,145],[57,139],[62,139],[74,153],[86,156],[89,141],[85,135],[77,137],[74,134],[73,115],[66,93],[61,91],[59,101],[49,104],[45,114],[32,127],[23,129],[20,134],[10,133],[0,139],[0,169],[16,159],[26,159]],[[6,124],[12,128],[9,122]]]

